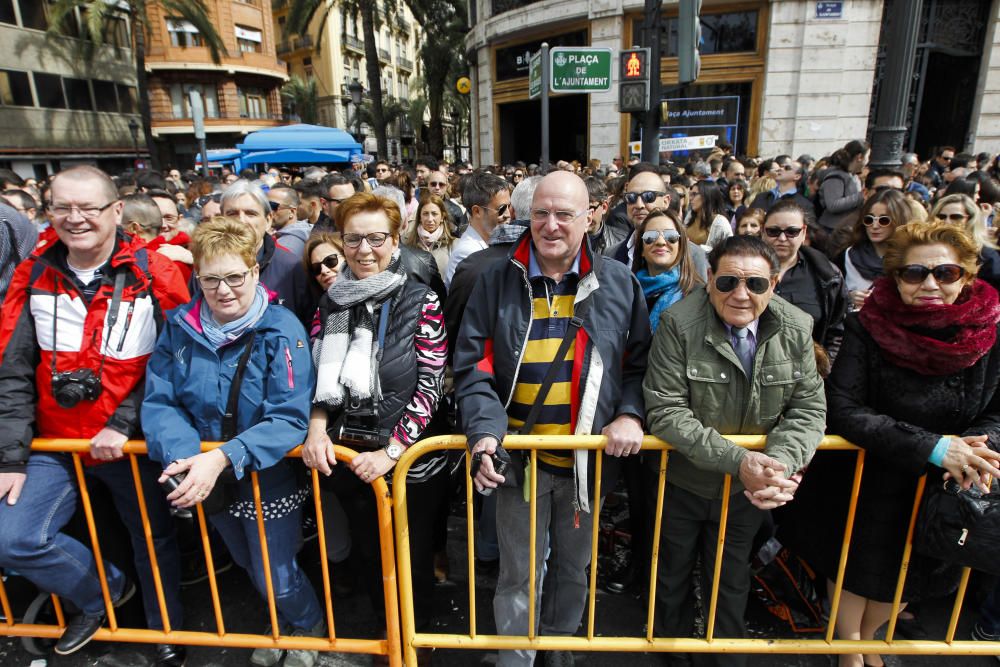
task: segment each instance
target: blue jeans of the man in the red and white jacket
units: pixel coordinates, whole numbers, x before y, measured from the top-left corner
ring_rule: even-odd
[[[183,619],[174,521],[163,490],[156,482],[160,467],[141,457],[138,463],[167,613],[171,627],[178,629]],[[132,466],[125,458],[84,470],[88,478],[99,480],[111,492],[132,540],[146,623],[150,628],[162,629]],[[94,555],[89,546],[60,532],[73,516],[78,496],[69,454],[33,453],[28,459],[27,478],[17,504],[0,503],[0,526],[3,526],[0,567],[16,570],[41,590],[66,598],[85,614],[97,615],[105,609]],[[104,572],[114,600],[123,592],[125,576],[108,561],[104,563]]]

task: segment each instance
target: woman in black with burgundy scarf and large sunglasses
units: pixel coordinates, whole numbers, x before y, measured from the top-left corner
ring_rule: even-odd
[[[827,386],[828,431],[866,458],[836,619],[841,639],[871,640],[889,620],[920,476],[968,488],[1000,475],[1000,301],[976,278],[978,256],[956,225],[903,225],[883,257],[884,277],[845,322]],[[779,531],[831,593],[855,456],[817,455]],[[913,554],[902,600],[947,594],[959,573]],[[840,667],[882,664],[878,655],[840,657]]]

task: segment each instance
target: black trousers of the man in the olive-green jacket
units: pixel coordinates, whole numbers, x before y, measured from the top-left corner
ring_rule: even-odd
[[[663,528],[656,576],[656,634],[658,637],[690,637],[694,632],[695,600],[692,573],[701,555],[701,590],[708,613],[715,568],[715,545],[719,536],[722,501],[702,498],[667,483],[664,491]],[[742,493],[729,499],[719,596],[715,615],[715,637],[743,637],[743,615],[750,591],[748,567],[754,535],[763,512]],[[694,665],[741,667],[745,655],[695,654]]]

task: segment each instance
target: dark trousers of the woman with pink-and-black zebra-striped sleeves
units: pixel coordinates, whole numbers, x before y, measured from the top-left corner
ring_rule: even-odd
[[[343,505],[351,531],[351,559],[356,566],[380,623],[385,624],[382,588],[382,555],[379,550],[378,512],[371,485],[347,466],[333,469],[331,486]],[[428,480],[406,485],[406,510],[410,528],[410,566],[413,578],[413,615],[418,631],[428,627],[434,592],[434,522],[447,502],[448,469]]]

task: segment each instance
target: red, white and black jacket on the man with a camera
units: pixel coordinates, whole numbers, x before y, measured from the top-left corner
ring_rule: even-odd
[[[122,232],[89,304],[65,257],[65,246],[56,241],[22,262],[0,311],[2,472],[24,471],[36,434],[92,438],[105,426],[127,436],[137,433],[146,361],[163,313],[189,298],[173,262]],[[124,290],[117,321],[108,330],[119,272],[125,274]],[[100,372],[102,391],[96,400],[69,409],[56,403],[53,356],[57,372]]]

